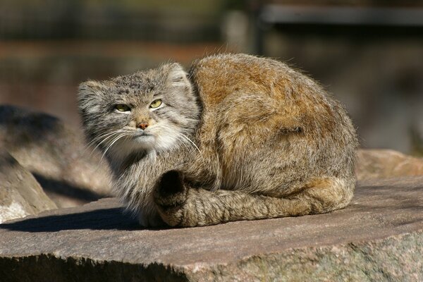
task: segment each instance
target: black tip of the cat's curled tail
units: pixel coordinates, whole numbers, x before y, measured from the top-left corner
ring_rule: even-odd
[[[154,202],[161,209],[180,207],[186,200],[183,175],[178,171],[168,171],[159,179],[154,189]]]

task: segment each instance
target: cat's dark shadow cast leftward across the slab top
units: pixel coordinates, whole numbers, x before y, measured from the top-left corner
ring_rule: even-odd
[[[66,230],[137,230],[142,228],[120,207],[97,209],[75,214],[49,215],[3,223],[1,229],[23,232],[58,232]]]

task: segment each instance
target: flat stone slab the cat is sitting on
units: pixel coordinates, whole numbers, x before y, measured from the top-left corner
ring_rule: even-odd
[[[423,281],[423,177],[329,214],[142,229],[115,199],[0,225],[4,281]]]

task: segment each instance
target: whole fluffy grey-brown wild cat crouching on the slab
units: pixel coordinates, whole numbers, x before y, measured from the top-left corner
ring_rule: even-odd
[[[142,226],[320,214],[348,205],[357,137],[345,109],[273,59],[208,56],[80,85],[88,139]]]

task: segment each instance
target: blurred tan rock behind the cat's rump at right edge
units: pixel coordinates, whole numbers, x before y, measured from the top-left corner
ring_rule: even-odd
[[[358,180],[423,176],[423,159],[391,149],[360,149],[357,150],[355,173]]]

